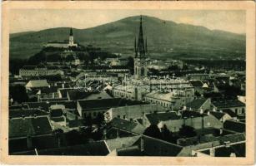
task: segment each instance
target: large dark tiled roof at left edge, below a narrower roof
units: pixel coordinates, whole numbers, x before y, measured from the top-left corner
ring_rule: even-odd
[[[48,117],[9,120],[9,138],[51,133],[52,127]]]

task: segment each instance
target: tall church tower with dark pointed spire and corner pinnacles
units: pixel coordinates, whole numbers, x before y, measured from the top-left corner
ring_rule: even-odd
[[[134,41],[134,76],[136,79],[141,79],[148,76],[148,57],[147,57],[147,39],[143,38],[143,18],[140,16],[140,25],[138,32],[138,42],[136,37]]]

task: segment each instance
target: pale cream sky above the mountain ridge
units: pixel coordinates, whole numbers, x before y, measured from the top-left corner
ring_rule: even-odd
[[[40,31],[53,27],[84,29],[138,15],[208,27],[211,30],[234,33],[246,31],[246,14],[242,10],[12,9],[10,32]]]

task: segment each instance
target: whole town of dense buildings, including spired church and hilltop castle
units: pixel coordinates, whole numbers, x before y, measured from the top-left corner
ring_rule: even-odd
[[[67,43],[47,46],[78,45],[71,29]],[[148,76],[147,47],[140,17],[133,76],[115,59],[106,69],[23,66],[10,85],[22,85],[29,100],[10,96],[9,153],[244,157],[244,96],[203,96],[222,94],[219,85],[233,84],[239,73]]]

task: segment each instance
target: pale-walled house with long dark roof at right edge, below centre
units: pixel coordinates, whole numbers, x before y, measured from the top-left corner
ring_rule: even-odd
[[[245,115],[245,104],[239,100],[213,100],[213,109],[232,110],[237,115]]]

